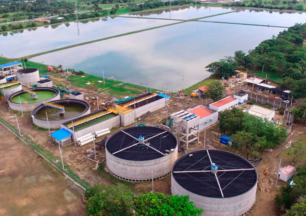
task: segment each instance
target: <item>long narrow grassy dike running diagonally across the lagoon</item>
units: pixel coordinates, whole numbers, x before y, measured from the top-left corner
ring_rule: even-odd
[[[34,58],[34,57],[39,56],[39,55],[53,53],[53,52],[56,52],[56,51],[65,50],[65,49],[69,49],[69,48],[73,48],[73,47],[78,47],[78,46],[82,46],[82,45],[89,44],[89,43],[95,43],[95,42],[108,40],[108,39],[112,39],[112,38],[118,38],[118,37],[125,36],[125,35],[132,35],[132,34],[139,33],[139,32],[145,32],[145,31],[149,31],[149,30],[152,30],[152,29],[163,28],[163,27],[167,27],[167,26],[171,26],[171,25],[177,25],[177,24],[181,24],[181,23],[185,23],[185,22],[197,21],[197,20],[200,20],[200,19],[208,18],[208,17],[215,17],[215,16],[227,14],[227,13],[234,13],[234,12],[237,12],[237,11],[239,11],[239,10],[234,10],[234,11],[230,11],[230,12],[226,12],[226,13],[219,13],[219,14],[206,16],[206,17],[199,17],[199,18],[190,19],[190,20],[184,20],[184,21],[181,21],[181,22],[170,23],[170,24],[166,24],[166,25],[160,25],[160,26],[156,26],[156,27],[152,27],[152,28],[145,28],[145,29],[141,29],[141,30],[137,30],[137,31],[127,32],[127,33],[123,33],[123,34],[119,34],[119,35],[113,35],[113,36],[110,36],[110,37],[91,40],[91,41],[87,41],[87,42],[83,42],[83,43],[77,43],[77,44],[74,44],[74,45],[70,45],[70,46],[66,46],[66,47],[62,47],[62,48],[58,48],[58,49],[54,49],[54,50],[49,50],[49,51],[45,51],[45,52],[41,52],[41,53],[36,53],[36,54],[33,54],[33,55],[28,55],[28,56],[25,56],[25,57],[21,57],[21,58]]]

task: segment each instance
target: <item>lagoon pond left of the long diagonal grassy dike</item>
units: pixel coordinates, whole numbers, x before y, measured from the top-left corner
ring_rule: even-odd
[[[171,20],[137,20],[119,17],[114,19],[98,18],[80,21],[80,36],[77,34],[76,22],[71,22],[68,26],[66,24],[56,24],[47,28],[27,29],[23,30],[22,34],[20,34],[21,32],[4,33],[0,35],[0,54],[8,58],[17,58],[174,22]]]

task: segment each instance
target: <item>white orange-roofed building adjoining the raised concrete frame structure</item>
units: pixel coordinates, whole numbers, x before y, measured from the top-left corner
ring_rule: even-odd
[[[196,106],[188,112],[200,117],[200,131],[218,122],[218,112],[205,106]]]

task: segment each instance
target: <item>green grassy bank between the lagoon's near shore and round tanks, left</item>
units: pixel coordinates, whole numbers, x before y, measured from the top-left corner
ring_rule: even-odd
[[[13,61],[20,61],[20,59],[10,59],[10,58],[3,58],[0,57],[0,64],[6,64],[9,62]],[[33,62],[33,61],[28,61],[27,62],[27,68],[38,68],[40,74],[46,74],[47,73],[47,65]],[[53,76],[58,76],[56,73],[50,73],[48,74],[53,75]],[[131,83],[125,83],[122,81],[118,80],[108,80],[105,79],[105,85],[103,83],[98,82],[99,80],[103,81],[102,77],[99,76],[94,76],[90,74],[84,74],[85,77],[81,76],[69,76],[66,78],[68,82],[70,82],[73,86],[75,87],[83,87],[83,88],[88,88],[93,91],[98,91],[99,93],[107,93],[110,95],[135,95],[142,93],[146,91],[146,87],[144,86],[139,86]],[[90,82],[90,85],[87,85],[86,83]],[[122,83],[122,84],[121,84]],[[118,85],[119,84],[119,85]],[[121,84],[121,85],[120,85]],[[152,88],[152,92],[158,91],[157,89]]]

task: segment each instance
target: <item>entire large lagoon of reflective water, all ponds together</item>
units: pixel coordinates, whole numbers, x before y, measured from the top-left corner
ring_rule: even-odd
[[[34,32],[0,36],[1,40],[7,42],[1,43],[5,50],[0,52],[4,52],[7,57],[20,57],[111,35],[174,24],[40,55],[31,61],[63,65],[65,68],[83,70],[98,76],[102,76],[104,69],[106,77],[114,76],[117,80],[177,91],[210,76],[205,66],[212,61],[233,55],[236,50],[248,52],[261,41],[285,30],[284,27],[302,23],[306,18],[305,13],[220,7],[181,7],[125,16],[129,18],[116,17],[106,21],[98,19],[95,22],[79,23],[80,36],[76,34],[76,23],[70,23],[69,27],[62,24],[55,29],[38,28]],[[158,20],[190,20],[200,17],[206,17],[200,20],[209,22],[175,24],[177,20]],[[19,42],[18,38],[24,39]],[[23,49],[9,47],[9,44],[16,41],[22,43],[16,45]]]

